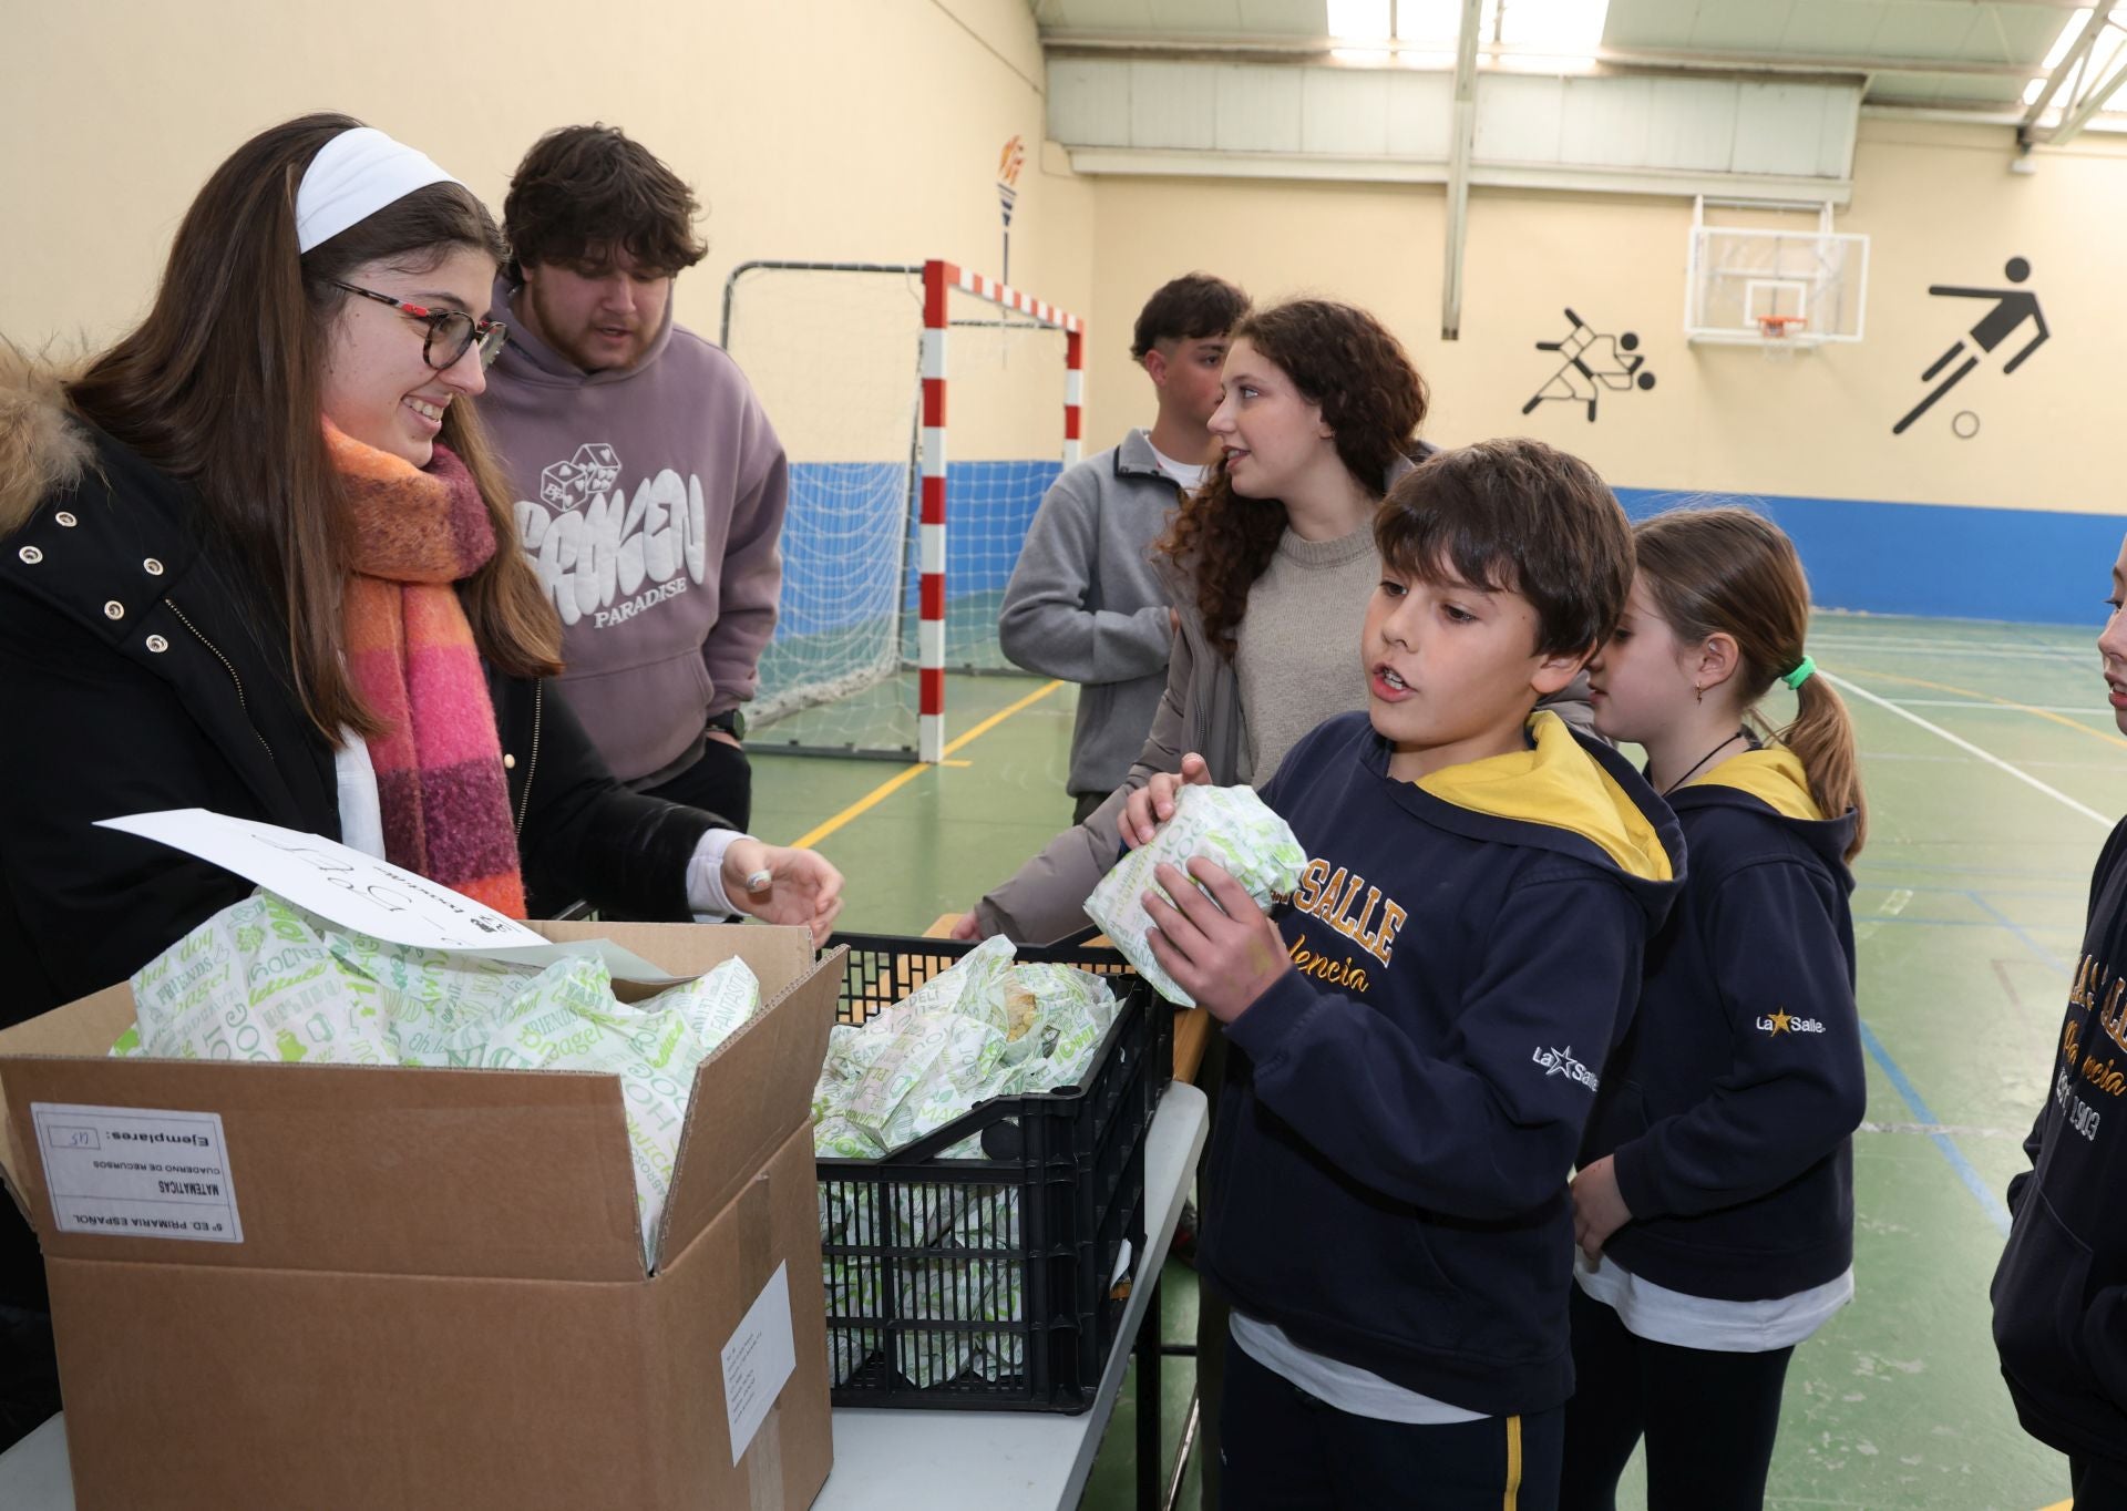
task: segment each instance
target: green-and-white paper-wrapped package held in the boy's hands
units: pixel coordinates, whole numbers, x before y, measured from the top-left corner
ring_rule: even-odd
[[[1195,1007],[1195,998],[1159,968],[1144,943],[1153,919],[1142,898],[1146,892],[1168,898],[1166,887],[1153,881],[1155,866],[1168,864],[1189,875],[1189,862],[1198,856],[1225,868],[1266,913],[1274,898],[1300,885],[1300,873],[1308,864],[1293,830],[1263,807],[1253,787],[1183,787],[1174,794],[1174,817],[1100,879],[1085,900],[1085,913],[1159,996],[1180,1007]]]

